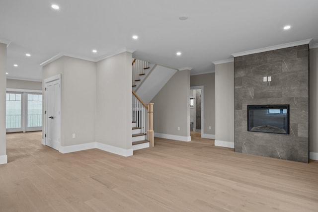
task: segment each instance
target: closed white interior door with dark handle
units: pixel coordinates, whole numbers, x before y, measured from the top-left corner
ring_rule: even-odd
[[[60,150],[61,139],[61,83],[60,78],[45,83],[46,145]]]

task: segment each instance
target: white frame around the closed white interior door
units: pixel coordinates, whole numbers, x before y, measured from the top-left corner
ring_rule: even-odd
[[[48,117],[47,117],[47,114],[46,114],[46,110],[47,110],[47,95],[46,95],[46,84],[49,83],[49,82],[52,82],[52,81],[57,81],[59,84],[60,84],[60,101],[59,101],[59,104],[58,104],[58,107],[59,107],[59,111],[60,111],[60,119],[59,119],[59,122],[58,122],[58,130],[57,130],[57,133],[58,133],[58,138],[60,140],[59,142],[59,146],[58,146],[58,151],[60,151],[61,149],[61,117],[62,117],[62,114],[61,114],[61,99],[62,99],[62,85],[61,85],[61,73],[60,74],[57,74],[55,76],[51,76],[49,78],[46,78],[44,79],[44,123],[45,123],[45,127],[43,128],[44,129],[44,143],[42,142],[42,144],[46,145],[46,134],[47,134],[47,121],[48,121]]]

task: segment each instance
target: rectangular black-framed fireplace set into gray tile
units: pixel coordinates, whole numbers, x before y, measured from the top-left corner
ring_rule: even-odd
[[[247,105],[247,130],[289,134],[289,105]]]

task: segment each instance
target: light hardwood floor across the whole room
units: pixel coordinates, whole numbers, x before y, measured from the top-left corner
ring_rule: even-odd
[[[318,212],[318,161],[309,164],[155,139],[122,157],[61,154],[41,133],[7,135],[0,212]]]

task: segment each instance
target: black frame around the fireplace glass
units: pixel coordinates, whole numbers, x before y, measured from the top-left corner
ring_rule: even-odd
[[[257,131],[257,130],[250,130],[251,126],[250,126],[250,108],[260,108],[260,109],[280,109],[280,110],[287,110],[287,114],[286,114],[286,133],[282,133],[282,132],[271,132],[271,131]],[[260,132],[260,133],[275,133],[275,134],[289,134],[289,128],[290,128],[290,123],[289,123],[289,116],[290,116],[290,110],[289,110],[289,105],[247,105],[247,131],[249,132]]]

